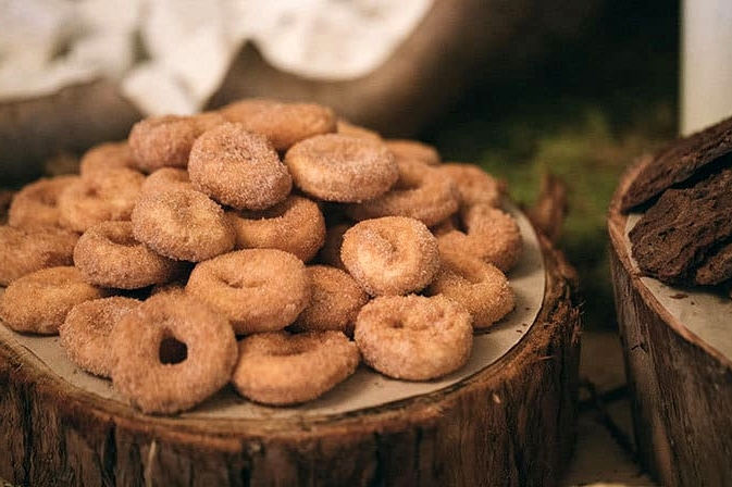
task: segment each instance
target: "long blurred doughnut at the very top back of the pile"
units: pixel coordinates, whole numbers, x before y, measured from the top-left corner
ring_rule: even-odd
[[[229,103],[220,112],[247,130],[262,134],[281,152],[308,137],[336,130],[333,110],[317,103],[251,98]]]

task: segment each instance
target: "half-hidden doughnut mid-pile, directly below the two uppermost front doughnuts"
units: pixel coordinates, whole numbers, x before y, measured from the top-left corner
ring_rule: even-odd
[[[290,195],[259,212],[227,211],[237,249],[280,249],[308,262],[325,241],[325,218],[314,201]]]

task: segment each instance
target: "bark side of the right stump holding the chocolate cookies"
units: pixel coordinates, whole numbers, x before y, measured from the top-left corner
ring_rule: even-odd
[[[670,316],[633,272],[621,203],[609,211],[611,271],[641,461],[663,486],[732,485],[732,363]]]

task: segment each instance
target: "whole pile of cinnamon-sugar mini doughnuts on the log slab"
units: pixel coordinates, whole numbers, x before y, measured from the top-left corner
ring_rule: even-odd
[[[13,197],[3,323],[145,413],[226,385],[313,400],[360,364],[430,380],[514,308],[506,185],[306,102],[150,116]]]

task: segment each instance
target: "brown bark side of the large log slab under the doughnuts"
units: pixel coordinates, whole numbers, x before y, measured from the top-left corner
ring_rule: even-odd
[[[553,486],[576,433],[572,270],[541,238],[547,290],[525,337],[454,387],[331,417],[156,417],[61,384],[0,342],[0,478],[16,486]]]

